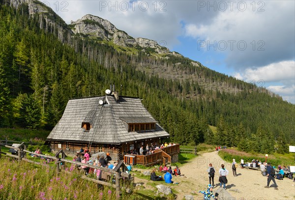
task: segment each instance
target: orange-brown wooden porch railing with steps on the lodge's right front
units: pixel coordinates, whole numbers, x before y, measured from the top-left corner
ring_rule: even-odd
[[[126,165],[144,165],[144,166],[153,166],[156,164],[171,163],[171,156],[179,153],[179,144],[167,146],[161,149],[154,150],[153,154],[149,155],[134,155],[126,154],[124,155],[124,163]]]

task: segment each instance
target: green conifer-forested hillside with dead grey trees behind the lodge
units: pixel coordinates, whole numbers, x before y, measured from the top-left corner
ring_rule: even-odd
[[[115,84],[120,95],[143,99],[174,142],[262,153],[295,144],[295,106],[264,88],[189,58],[126,51],[74,35],[59,18],[51,26],[45,20],[27,5],[0,4],[1,127],[51,130],[69,99],[104,95]]]

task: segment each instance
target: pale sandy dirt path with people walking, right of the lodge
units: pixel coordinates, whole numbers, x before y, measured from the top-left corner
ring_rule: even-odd
[[[227,191],[236,200],[295,200],[295,182],[285,178],[284,180],[276,179],[279,190],[274,190],[273,187],[266,189],[266,176],[263,176],[260,171],[236,169],[237,176],[234,177],[231,169],[231,163],[226,163],[222,160],[217,152],[204,153],[196,157],[190,162],[183,165],[180,170],[183,176],[173,177],[173,181],[179,182],[179,185],[171,185],[178,194],[177,200],[183,200],[184,195],[191,195],[192,192],[205,190],[209,184],[207,173],[208,164],[212,163],[215,171],[219,171],[221,164],[229,170]],[[218,182],[218,172],[215,173],[214,184]],[[271,182],[270,185],[273,183]],[[214,186],[217,189],[219,185]],[[213,193],[214,193],[213,189]],[[202,194],[197,193],[194,199],[203,199]]]

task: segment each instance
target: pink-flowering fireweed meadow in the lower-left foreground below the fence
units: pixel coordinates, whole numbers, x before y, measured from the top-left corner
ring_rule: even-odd
[[[46,162],[34,165],[22,161],[19,165],[17,160],[2,157],[0,200],[114,200],[132,195],[123,193],[116,197],[115,189],[83,180],[73,168],[66,170],[72,173],[57,174]]]

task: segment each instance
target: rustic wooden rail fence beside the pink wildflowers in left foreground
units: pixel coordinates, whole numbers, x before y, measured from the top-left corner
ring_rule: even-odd
[[[1,151],[1,146],[17,150],[18,155],[13,155],[13,154],[10,154],[10,153],[2,152]],[[24,147],[22,148],[22,146],[24,146]],[[89,164],[85,164],[85,163],[81,163],[81,162],[67,160],[67,159],[64,158],[65,154],[63,153],[62,150],[60,150],[59,153],[56,154],[56,156],[49,156],[49,155],[38,154],[38,153],[34,153],[34,152],[30,152],[30,151],[26,150],[26,145],[24,145],[24,143],[22,143],[22,145],[19,146],[19,147],[9,146],[9,145],[5,145],[5,144],[0,143],[0,157],[1,157],[1,154],[4,154],[6,156],[10,156],[10,157],[18,159],[19,163],[21,161],[26,161],[26,162],[33,163],[33,164],[40,164],[39,162],[35,162],[35,161],[27,159],[26,158],[27,153],[34,154],[34,155],[37,155],[37,156],[40,156],[40,157],[43,157],[43,158],[47,158],[47,159],[50,159],[50,160],[55,160],[57,173],[60,173],[60,171],[61,171],[60,163],[71,163],[71,164],[75,164],[75,165],[86,166],[86,167],[89,167],[89,168],[101,170],[102,172],[104,171],[104,172],[107,172],[108,174],[115,174],[115,179],[116,179],[115,183],[105,182],[105,181],[97,180],[97,179],[92,179],[92,178],[87,177],[86,175],[82,175],[81,178],[85,179],[85,180],[95,182],[95,183],[98,183],[98,184],[101,184],[101,185],[105,185],[105,186],[108,186],[108,187],[113,187],[113,188],[116,189],[116,195],[117,196],[120,195],[120,179],[127,178],[128,180],[131,180],[131,174],[125,172],[126,171],[126,166],[123,164],[123,161],[119,161],[116,168],[114,170],[111,170],[111,169],[108,169],[108,168],[103,168],[103,167],[93,166],[93,165],[89,165]],[[59,158],[60,153],[62,155],[62,158]],[[62,166],[65,169],[65,165],[62,165]],[[120,167],[122,167],[122,172],[120,171]],[[69,171],[65,171],[64,169],[63,169],[64,172],[70,173]]]

